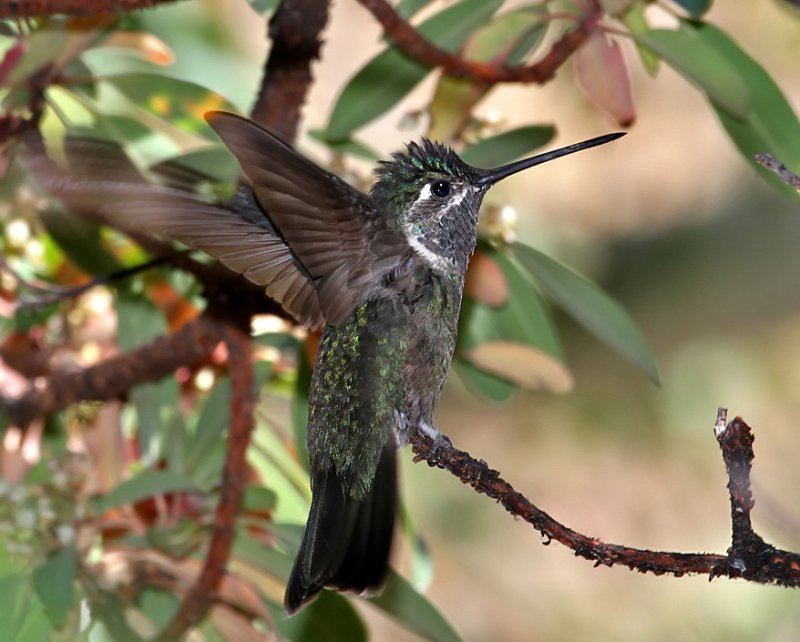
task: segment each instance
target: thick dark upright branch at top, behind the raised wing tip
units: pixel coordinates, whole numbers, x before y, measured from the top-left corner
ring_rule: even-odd
[[[251,116],[287,141],[297,136],[329,4],[329,0],[283,0],[269,22],[272,47]]]

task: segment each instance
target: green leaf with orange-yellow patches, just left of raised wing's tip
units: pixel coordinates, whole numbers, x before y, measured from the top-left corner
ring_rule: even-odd
[[[221,94],[186,80],[156,74],[121,74],[102,80],[150,113],[209,140],[217,137],[203,114],[215,109],[237,111]]]

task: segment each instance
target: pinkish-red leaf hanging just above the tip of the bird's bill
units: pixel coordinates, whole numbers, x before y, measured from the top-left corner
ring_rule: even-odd
[[[575,73],[583,92],[622,127],[636,120],[631,81],[619,45],[594,32],[575,54]]]

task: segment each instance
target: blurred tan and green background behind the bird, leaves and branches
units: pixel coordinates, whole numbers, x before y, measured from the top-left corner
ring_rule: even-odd
[[[266,52],[264,23],[245,3],[205,2],[203,12],[197,4],[143,20],[173,49],[176,75],[246,111]],[[707,20],[798,109],[797,9],[719,0]],[[219,53],[198,65],[204,38]],[[324,126],[341,88],[383,46],[367,12],[344,0],[333,5],[325,41],[304,129]],[[630,43],[623,47],[634,61]],[[756,531],[800,550],[800,212],[755,176],[685,79],[666,65],[656,78],[633,62],[629,69],[637,119],[628,136],[516,176],[487,203],[513,207],[520,240],[622,303],[653,346],[661,385],[556,312],[571,392],[520,392],[493,404],[452,376],[438,427],[575,530],[652,550],[722,553],[730,509],[713,425],[726,407],[756,436]],[[425,119],[409,114],[425,106],[433,82],[359,138],[385,157],[424,134]],[[504,128],[555,124],[552,146],[618,129],[576,98],[569,64],[543,87],[496,90],[477,113]],[[299,146],[326,160],[309,137]],[[401,458],[403,495],[434,561],[429,597],[465,640],[800,639],[796,591],[593,568],[558,544],[542,546],[531,527],[447,473],[413,464],[410,451]],[[409,555],[399,548],[403,572]],[[417,639],[369,605],[357,608],[374,639]]]

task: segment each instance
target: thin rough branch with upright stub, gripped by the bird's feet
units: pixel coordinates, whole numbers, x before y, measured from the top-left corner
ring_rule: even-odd
[[[717,427],[719,425],[718,421]],[[725,426],[724,418],[722,426]],[[595,566],[622,564],[631,570],[656,575],[670,573],[680,577],[686,573],[706,573],[709,579],[719,576],[743,577],[765,584],[800,586],[800,556],[765,544],[750,528],[752,437],[747,424],[737,418],[727,428],[717,428],[716,432],[728,468],[731,489],[733,545],[727,555],[648,551],[606,544],[556,521],[514,490],[486,462],[453,448],[447,438],[434,443],[430,438],[417,434],[412,443],[417,453],[415,461],[424,459],[430,466],[451,472],[477,492],[500,502],[512,515],[531,524],[545,538],[545,543],[556,540],[574,551],[576,556],[591,560]]]

